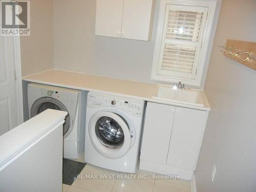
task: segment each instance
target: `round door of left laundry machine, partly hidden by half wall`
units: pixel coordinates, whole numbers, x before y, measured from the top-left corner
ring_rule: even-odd
[[[37,99],[33,103],[31,108],[31,118],[47,109],[68,112],[65,105],[63,105],[59,100],[51,97],[42,97]],[[70,127],[70,117],[68,113],[68,115],[65,118],[65,123],[63,124],[63,135],[65,135],[69,131],[69,127]]]

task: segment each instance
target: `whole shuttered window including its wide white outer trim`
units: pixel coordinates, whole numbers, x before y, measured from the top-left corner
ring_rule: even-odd
[[[167,3],[160,8],[152,79],[199,86],[213,22],[213,16],[208,18],[212,7],[201,1],[191,1],[191,5],[162,2]]]

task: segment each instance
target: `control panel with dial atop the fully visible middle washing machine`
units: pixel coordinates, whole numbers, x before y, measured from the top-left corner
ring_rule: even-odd
[[[117,108],[135,115],[142,115],[144,101],[113,95],[89,93],[88,106]]]

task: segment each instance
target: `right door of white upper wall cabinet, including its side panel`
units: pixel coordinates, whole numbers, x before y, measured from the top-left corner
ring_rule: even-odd
[[[122,38],[150,40],[155,0],[124,0]]]

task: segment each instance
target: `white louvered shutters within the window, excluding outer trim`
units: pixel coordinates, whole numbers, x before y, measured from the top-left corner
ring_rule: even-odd
[[[166,6],[158,75],[195,79],[207,10]]]

